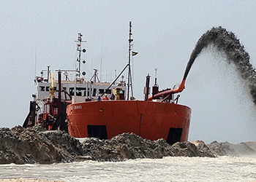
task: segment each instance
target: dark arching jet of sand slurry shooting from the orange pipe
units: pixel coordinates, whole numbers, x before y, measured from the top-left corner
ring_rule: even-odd
[[[225,52],[227,60],[235,64],[241,74],[241,78],[244,79],[248,85],[253,102],[256,104],[256,71],[255,68],[252,67],[252,64],[249,63],[249,53],[244,50],[244,46],[241,45],[235,34],[227,31],[225,28],[211,28],[211,30],[204,33],[203,36],[198,39],[195,49],[192,51],[189,62],[187,63],[184,79],[187,79],[195,58],[200,55],[203,49],[211,44],[213,44],[217,50]]]

